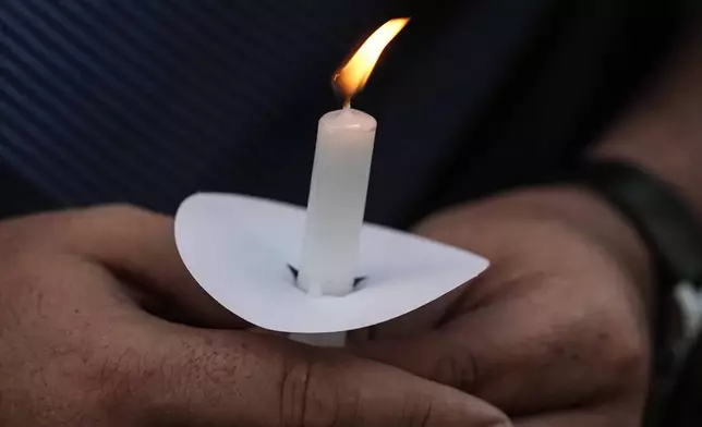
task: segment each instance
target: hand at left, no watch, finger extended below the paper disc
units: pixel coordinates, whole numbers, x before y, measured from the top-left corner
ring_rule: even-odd
[[[0,426],[504,420],[394,367],[213,329],[245,326],[194,285],[172,235],[170,219],[129,207],[0,223]],[[199,328],[157,316],[174,313]]]

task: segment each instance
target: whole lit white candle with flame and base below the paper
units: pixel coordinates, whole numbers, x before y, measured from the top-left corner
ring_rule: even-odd
[[[319,120],[298,274],[298,285],[311,296],[342,297],[353,291],[377,123],[351,109],[351,98],[363,88],[385,47],[408,22],[397,19],[383,25],[335,76],[346,107]],[[346,332],[292,334],[291,339],[342,346]]]

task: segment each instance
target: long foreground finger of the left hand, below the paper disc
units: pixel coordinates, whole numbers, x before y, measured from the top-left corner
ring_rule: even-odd
[[[181,327],[160,337],[164,363],[135,394],[154,417],[145,424],[508,425],[475,398],[340,352],[247,332]]]

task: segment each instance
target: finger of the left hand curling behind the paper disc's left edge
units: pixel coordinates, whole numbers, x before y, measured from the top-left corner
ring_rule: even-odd
[[[169,318],[210,328],[247,326],[194,281],[178,254],[171,218],[129,206],[87,209],[68,218],[63,232],[76,254],[136,282],[156,296]]]

